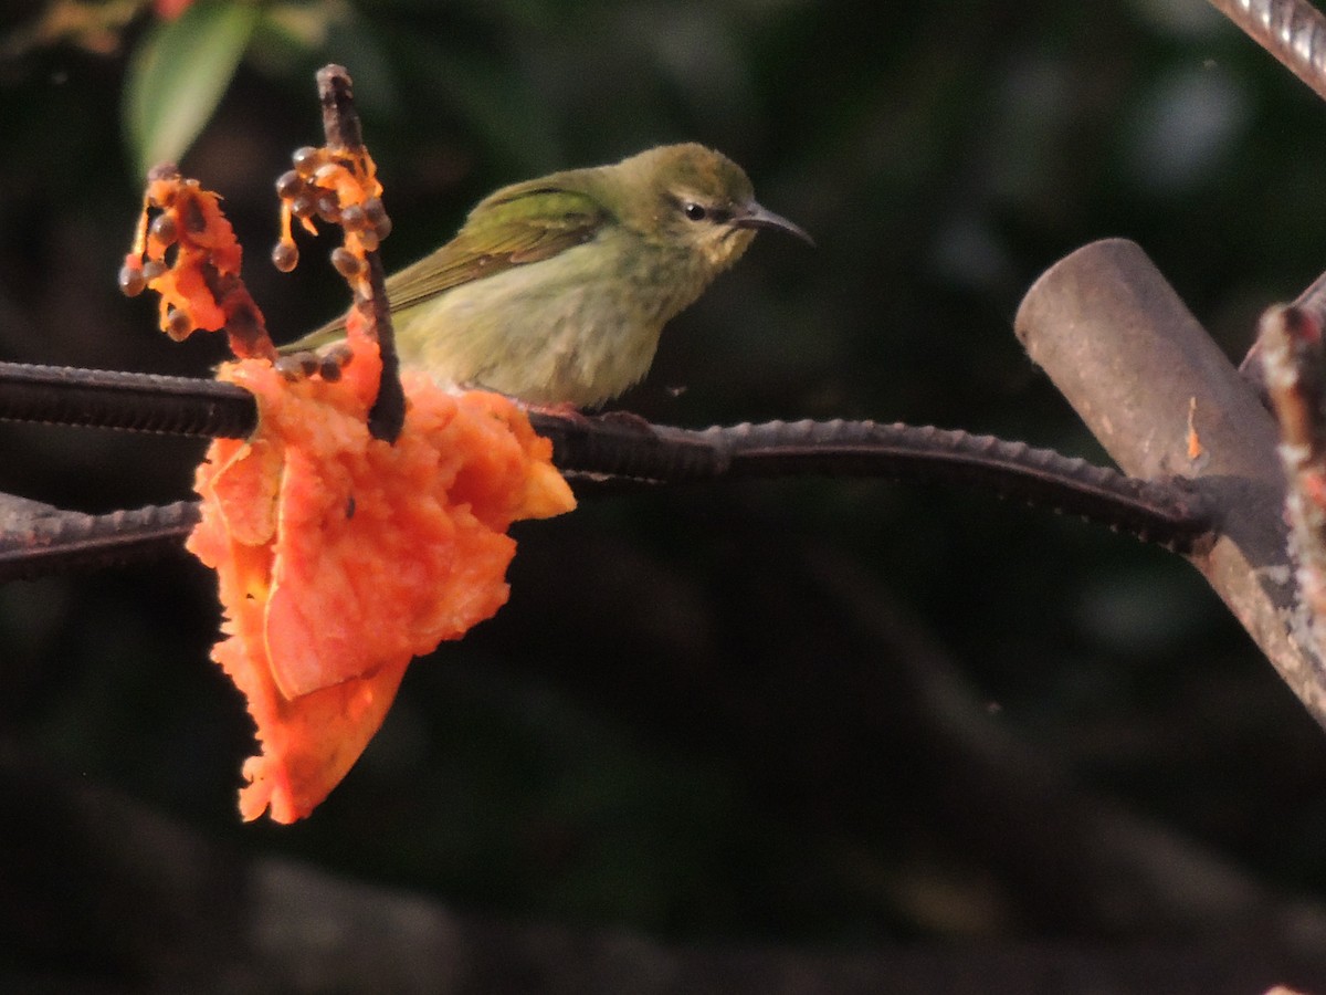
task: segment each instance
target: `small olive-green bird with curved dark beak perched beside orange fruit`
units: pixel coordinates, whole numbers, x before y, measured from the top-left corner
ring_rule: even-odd
[[[810,241],[695,143],[503,187],[387,279],[400,362],[530,405],[598,407],[648,373],[663,325],[758,228]],[[282,352],[343,337],[342,320]]]

